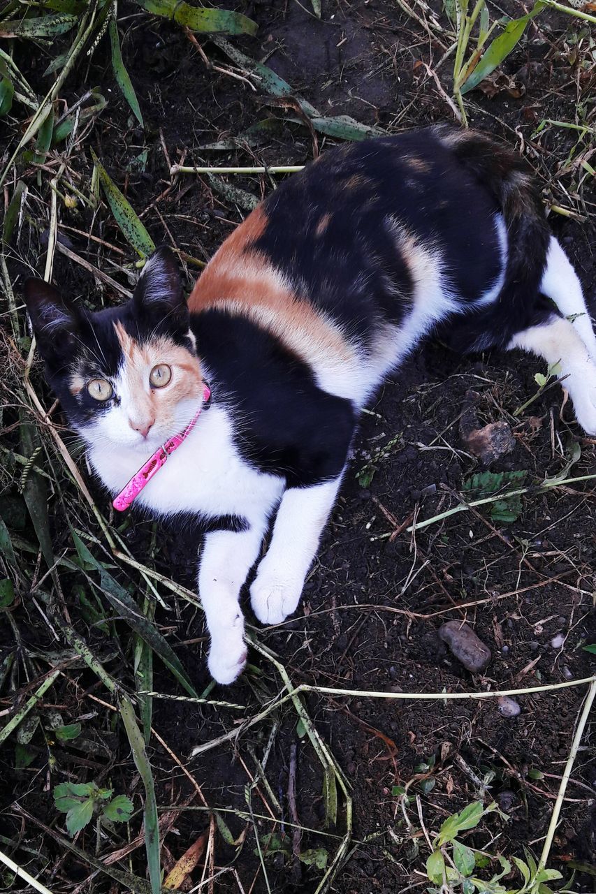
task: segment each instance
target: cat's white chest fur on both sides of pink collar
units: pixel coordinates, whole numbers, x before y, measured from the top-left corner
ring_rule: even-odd
[[[106,453],[93,444],[89,460],[111,493],[119,493],[144,461],[139,451],[123,447]],[[283,490],[282,478],[263,474],[242,459],[226,410],[214,406],[135,502],[158,515],[192,512],[257,521],[268,515]]]

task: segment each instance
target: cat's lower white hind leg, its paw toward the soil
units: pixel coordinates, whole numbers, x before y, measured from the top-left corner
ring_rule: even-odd
[[[560,364],[559,379],[573,401],[575,417],[588,434],[596,434],[596,363],[577,327],[556,314],[516,333],[507,350],[521,348]]]

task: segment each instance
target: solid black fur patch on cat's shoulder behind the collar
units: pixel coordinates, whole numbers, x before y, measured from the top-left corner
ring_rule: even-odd
[[[356,424],[351,401],[322,391],[306,364],[248,320],[209,310],[191,327],[244,460],[289,487],[340,474]]]

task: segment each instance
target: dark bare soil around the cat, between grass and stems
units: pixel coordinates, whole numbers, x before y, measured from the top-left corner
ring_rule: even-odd
[[[522,4],[506,5],[513,14],[522,14],[525,9]],[[354,0],[352,4],[335,4],[324,0],[322,21],[311,15],[310,8],[309,0],[303,0],[302,5],[295,0],[287,4],[248,4],[243,11],[258,21],[259,37],[234,42],[252,58],[266,60],[322,114],[350,114],[388,131],[453,120],[449,106],[422,64],[436,66],[443,50],[396,3]],[[495,15],[499,9],[495,9]],[[125,190],[132,206],[138,213],[146,212],[143,221],[156,242],[173,240],[188,256],[208,259],[244,212],[218,195],[207,178],[181,177],[172,185],[166,152],[172,163],[183,156],[185,164],[302,164],[312,156],[311,135],[300,124],[287,122],[293,114],[291,109],[268,105],[267,97],[243,81],[208,70],[191,41],[176,26],[139,16],[132,6],[123,5],[119,14],[125,16],[121,24],[124,61],[140,98],[146,133],[136,126],[117,90],[107,44],[105,51],[99,48],[89,71],[88,63],[81,63],[67,82],[69,101],[80,97],[87,85],[103,85],[109,102],[88,142]],[[442,14],[439,17],[444,21]],[[575,121],[578,97],[587,97],[589,84],[581,80],[583,74],[572,52],[573,35],[580,30],[575,20],[543,13],[532,25],[528,41],[503,66],[509,79],[507,89],[497,82],[494,96],[477,90],[467,102],[473,126],[486,128],[524,149],[541,177],[547,200],[575,209],[578,206],[570,205],[567,193],[579,195],[574,192],[577,173],[561,172],[576,135],[556,128],[540,137],[532,134],[542,118]],[[440,40],[448,45],[447,35],[440,35]],[[204,47],[213,63],[228,64],[217,47],[208,42]],[[16,55],[19,52],[22,71],[41,92],[40,85],[46,83],[41,72],[47,66],[47,53],[26,56],[28,51],[24,49],[17,50]],[[447,60],[439,70],[447,94],[450,64]],[[277,130],[266,135],[260,145],[248,145],[243,132],[266,118],[277,119]],[[231,137],[237,138],[236,148],[199,148]],[[331,143],[319,134],[320,150],[324,152],[328,145]],[[145,170],[131,168],[132,159],[144,148],[149,150]],[[74,167],[83,181],[89,178],[88,148],[81,149]],[[234,185],[256,196],[274,188],[269,177],[234,178]],[[551,214],[553,230],[574,260],[588,298],[593,296],[595,282],[596,232],[591,209],[589,203],[583,206],[583,221]],[[41,270],[45,251],[45,211],[31,203],[29,214],[29,235],[21,238],[12,258],[17,294],[23,265],[29,263]],[[80,208],[69,211],[63,207],[61,220],[65,224],[62,237],[70,240],[68,244],[77,254],[128,284],[122,271],[113,266],[113,262],[122,262],[119,256],[67,229],[70,226],[91,232],[120,246],[130,260],[130,250],[106,209],[92,217]],[[196,268],[190,263],[189,269],[190,284]],[[55,281],[64,291],[98,301],[93,297],[91,276],[59,254],[55,258]],[[107,289],[103,300],[116,301],[119,297]],[[581,645],[596,638],[596,495],[592,482],[525,497],[519,518],[508,525],[491,520],[489,511],[481,508],[426,527],[415,536],[404,529],[395,538],[390,536],[397,526],[406,527],[404,522],[412,515],[420,521],[455,506],[453,492],[460,491],[466,478],[482,470],[467,451],[460,431],[462,414],[471,400],[476,403],[480,424],[504,419],[515,436],[515,450],[494,463],[492,471],[527,470],[527,484],[540,482],[561,472],[566,465],[565,451],[574,442],[581,446],[581,458],[571,474],[581,476],[594,471],[594,441],[583,437],[575,425],[560,388],[546,392],[519,417],[513,416],[515,409],[536,392],[533,375],[539,370],[538,361],[521,356],[460,358],[440,344],[430,343],[387,382],[370,413],[362,417],[352,467],[299,611],[279,628],[257,631],[260,640],[285,664],[294,684],[386,693],[464,693],[535,687],[590,676],[593,660]],[[36,382],[41,390],[40,377]],[[469,392],[475,392],[476,397],[471,398]],[[10,437],[8,432],[9,444]],[[49,503],[56,554],[72,548],[64,519],[70,517],[72,501],[77,499],[64,476],[61,482],[66,493],[63,496],[54,491]],[[97,489],[95,493],[100,508],[107,512],[105,496]],[[17,499],[14,486],[6,489],[4,509],[9,497]],[[77,510],[72,512],[75,524],[79,516]],[[97,526],[92,522],[89,526],[93,535],[100,537]],[[186,586],[194,586],[195,540],[188,532],[174,536],[162,528],[158,530],[153,550],[158,569]],[[151,532],[149,522],[123,527],[133,554],[148,564]],[[30,534],[27,527],[23,536],[26,534]],[[96,554],[101,555],[101,547]],[[135,583],[139,586],[138,580]],[[65,573],[64,593],[74,626],[88,638],[108,670],[120,676],[123,684],[132,686],[132,653],[126,645],[126,628],[121,622],[115,623],[121,631],[121,638],[115,640],[97,625],[87,626],[89,619],[78,609],[74,575]],[[166,597],[166,592],[162,595]],[[202,618],[187,603],[178,600],[175,604],[175,611],[158,609],[156,617],[193,684],[202,691],[209,683]],[[249,611],[248,604],[246,608]],[[52,639],[38,612],[30,607],[26,611],[21,648],[29,653],[62,648]],[[473,677],[466,671],[438,638],[440,624],[454,619],[466,620],[490,647],[492,661],[483,677]],[[558,634],[563,634],[564,641],[554,647],[551,641]],[[13,628],[1,617],[0,641],[9,651]],[[285,831],[285,842],[289,842],[285,843],[286,855],[266,856],[270,889],[315,890],[320,870],[296,863],[292,857],[292,830],[287,825],[294,822],[287,798],[292,746],[297,745],[298,822],[312,830],[303,833],[298,846],[302,852],[327,848],[331,859],[345,832],[345,809],[340,797],[336,827],[324,827],[319,760],[303,730],[297,729],[294,709],[286,703],[267,720],[244,730],[233,743],[189,759],[193,746],[234,730],[238,718],[258,713],[281,690],[282,681],[269,662],[257,652],[251,653],[250,662],[253,669],[237,685],[214,690],[209,696],[245,704],[245,711],[156,699],[154,727],[199,783],[209,806],[242,814],[222,813],[221,817],[234,839],[246,831],[234,863],[244,890],[267,890],[250,810],[259,816],[281,817],[281,823],[275,825],[269,820],[255,820],[262,848],[268,849],[264,836],[270,831],[277,835]],[[60,702],[57,709],[64,713],[64,722],[72,722],[81,714],[94,714],[87,733],[92,750],[85,754],[72,748],[58,749],[57,770],[53,772],[47,770],[45,748],[26,770],[13,770],[13,746],[6,746],[0,757],[5,834],[13,841],[20,835],[20,844],[30,848],[38,847],[42,831],[28,822],[21,826],[22,814],[13,809],[14,797],[27,814],[62,829],[62,818],[56,820],[50,794],[56,781],[104,775],[119,791],[132,791],[134,768],[125,739],[120,733],[116,736],[111,716],[102,714],[100,705],[86,697],[91,693],[104,699],[106,692],[89,671],[81,668],[69,674],[76,684],[64,684],[56,690],[55,698]],[[25,682],[21,679],[21,685]],[[156,667],[154,686],[162,693],[178,692],[174,679],[161,666]],[[515,718],[499,713],[493,701],[305,696],[311,720],[345,773],[353,797],[355,843],[333,890],[342,894],[394,894],[409,886],[423,890],[429,851],[421,818],[428,830],[437,831],[447,815],[479,797],[474,776],[483,778],[485,774],[490,774],[486,803],[495,798],[510,819],[505,822],[492,814],[482,822],[480,831],[468,836],[468,843],[487,847],[492,855],[523,856],[523,845],[540,855],[584,694],[584,687],[570,687],[518,696],[521,713]],[[51,706],[46,697],[44,708]],[[268,786],[259,781],[251,791],[248,806],[246,787],[258,775],[255,757],[263,759],[272,730],[273,745],[265,769]],[[593,726],[591,730],[588,725],[550,857],[550,865],[561,869],[566,879],[570,862],[585,864],[594,859],[596,769],[590,761],[591,748]],[[83,755],[90,762],[88,771],[80,760]],[[159,805],[182,805],[192,793],[188,777],[155,740],[149,755]],[[420,765],[433,755],[434,766],[430,771],[421,770]],[[541,771],[544,777],[537,778],[535,772],[528,775],[530,771]],[[409,793],[420,797],[421,811],[419,814],[413,798],[407,806],[411,829],[404,822],[398,797],[392,794],[394,786],[408,783]],[[140,790],[137,780],[136,806],[140,806]],[[279,801],[278,808],[271,793]],[[179,815],[166,835],[170,864],[209,826],[209,815],[193,809],[198,806],[198,799],[190,801],[189,809]],[[138,822],[135,829],[138,831]],[[94,835],[94,831],[82,833],[79,847],[93,852]],[[269,846],[271,849],[270,842]],[[89,867],[76,857],[63,855],[50,872],[59,853],[56,847],[51,837],[45,838],[43,848],[49,867],[45,881],[55,890],[75,890],[87,878]],[[105,855],[115,846],[107,848],[102,841],[101,848],[104,850],[99,853]],[[236,848],[217,834],[215,865],[232,864],[235,854]],[[30,859],[21,852],[23,865]],[[130,868],[127,859],[118,865]],[[134,852],[132,866],[144,876],[142,849]],[[200,873],[195,875],[196,884]],[[116,882],[108,889],[103,875],[92,884],[93,890],[120,890]],[[591,876],[584,874],[572,887],[587,891],[591,885]],[[512,877],[509,887],[518,886],[519,880],[515,882]],[[217,879],[216,890],[238,890],[233,875],[227,873]]]

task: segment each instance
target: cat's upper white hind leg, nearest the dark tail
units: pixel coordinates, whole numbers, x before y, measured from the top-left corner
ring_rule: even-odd
[[[555,302],[561,316],[580,334],[588,353],[596,362],[596,335],[583,299],[582,284],[565,251],[554,236],[550,237],[547,266],[542,276],[541,293]]]

